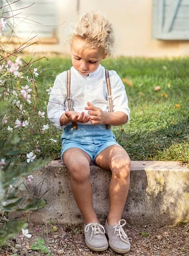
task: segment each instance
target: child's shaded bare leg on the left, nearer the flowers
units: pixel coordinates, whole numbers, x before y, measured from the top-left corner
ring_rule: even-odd
[[[71,177],[71,188],[85,224],[99,222],[92,205],[90,184],[90,157],[79,148],[69,148],[63,161]]]

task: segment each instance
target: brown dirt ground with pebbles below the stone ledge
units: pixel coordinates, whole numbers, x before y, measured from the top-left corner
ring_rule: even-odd
[[[8,245],[0,248],[1,256],[8,255],[123,255],[108,248],[104,252],[94,252],[85,245],[83,225],[53,225],[28,224],[32,237],[14,237]],[[180,222],[175,225],[153,226],[125,226],[125,231],[131,242],[128,256],[177,256],[189,255],[189,223]],[[31,250],[31,245],[38,239],[45,241],[48,253]]]

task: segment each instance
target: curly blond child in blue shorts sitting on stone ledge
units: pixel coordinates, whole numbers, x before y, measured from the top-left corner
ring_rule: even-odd
[[[123,230],[126,221],[121,217],[129,190],[130,159],[115,141],[111,125],[127,123],[130,110],[121,78],[115,71],[105,75],[100,65],[113,46],[114,34],[108,19],[93,11],[78,18],[70,36],[73,64],[70,77],[65,71],[56,77],[48,116],[64,130],[62,160],[69,170],[72,192],[83,216],[86,245],[94,251],[103,251],[109,241],[114,251],[125,253],[130,250],[130,243]],[[111,93],[107,92],[109,80]],[[110,209],[104,227],[92,205],[91,163],[112,173]]]

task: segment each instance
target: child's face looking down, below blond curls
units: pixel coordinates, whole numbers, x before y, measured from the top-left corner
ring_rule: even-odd
[[[101,48],[90,48],[83,39],[74,38],[71,46],[72,64],[81,75],[95,72],[102,59],[106,58]]]

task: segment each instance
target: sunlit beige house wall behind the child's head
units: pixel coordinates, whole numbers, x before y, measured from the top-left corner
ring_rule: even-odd
[[[116,55],[172,57],[189,55],[189,41],[162,41],[152,38],[153,0],[80,0],[80,10],[105,12],[114,25],[118,45]],[[38,45],[38,52],[69,54],[64,31],[77,12],[77,0],[57,0],[59,8],[59,43]]]

